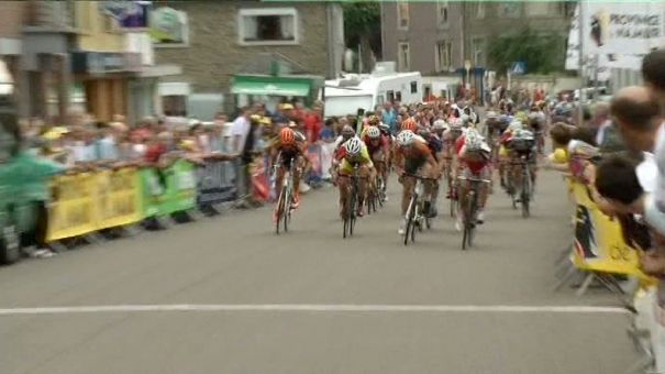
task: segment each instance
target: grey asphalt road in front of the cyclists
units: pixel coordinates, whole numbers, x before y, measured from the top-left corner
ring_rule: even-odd
[[[559,176],[529,220],[497,191],[467,252],[450,218],[404,248],[398,194],[351,240],[328,189],[285,235],[262,208],[2,267],[0,373],[608,374],[638,359],[612,296],[552,292],[572,231]]]

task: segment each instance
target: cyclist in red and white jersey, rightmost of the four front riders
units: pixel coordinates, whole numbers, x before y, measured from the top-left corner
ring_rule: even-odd
[[[462,136],[457,139],[455,142],[455,150],[457,152],[457,167],[455,167],[455,179],[457,176],[463,176],[466,178],[479,178],[479,179],[490,179],[491,178],[491,168],[490,168],[490,148],[487,143],[483,140],[483,136],[475,129],[467,129]],[[459,209],[466,206],[466,196],[468,195],[468,190],[470,188],[469,180],[459,180],[457,185],[459,197]],[[480,188],[478,191],[478,210],[476,220],[478,223],[483,223],[485,221],[485,206],[487,204],[487,198],[489,195],[489,185],[480,184]],[[462,213],[457,215],[457,221],[455,222],[455,228],[457,230],[462,230]]]

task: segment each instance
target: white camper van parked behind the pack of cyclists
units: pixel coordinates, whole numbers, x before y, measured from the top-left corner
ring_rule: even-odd
[[[324,90],[325,117],[356,114],[358,108],[374,111],[385,102],[411,105],[422,101],[420,73],[387,75],[350,75],[326,80]]]

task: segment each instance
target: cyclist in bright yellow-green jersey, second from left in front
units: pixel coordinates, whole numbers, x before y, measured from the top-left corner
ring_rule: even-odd
[[[340,188],[340,216],[342,219],[346,217],[346,201],[348,200],[350,193],[350,176],[353,175],[355,166],[358,166],[358,174],[361,176],[358,180],[358,204],[357,215],[363,217],[363,207],[365,205],[365,197],[367,195],[367,183],[372,183],[376,178],[376,169],[369,157],[367,146],[363,141],[353,136],[347,140],[341,148],[341,163],[340,163],[340,175],[337,177],[337,186]]]

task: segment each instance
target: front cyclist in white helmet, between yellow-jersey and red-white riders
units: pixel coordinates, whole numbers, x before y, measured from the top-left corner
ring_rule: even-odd
[[[402,219],[399,224],[399,234],[404,234],[407,226],[407,209],[415,188],[415,177],[420,173],[425,178],[439,179],[441,176],[439,164],[432,155],[432,151],[425,141],[415,135],[411,130],[402,130],[397,135],[397,148],[395,152],[395,165],[403,186],[402,193]],[[432,201],[432,182],[424,183],[425,212],[430,211]]]

